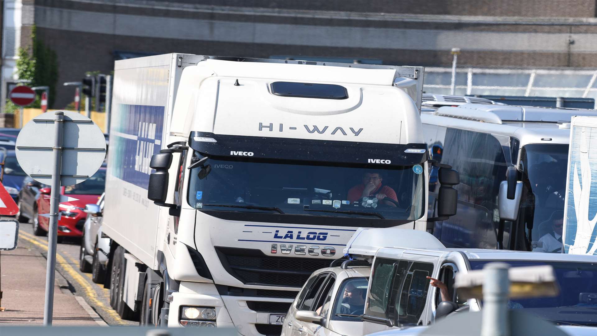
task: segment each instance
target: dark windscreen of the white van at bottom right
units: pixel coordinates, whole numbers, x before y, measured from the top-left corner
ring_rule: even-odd
[[[481,270],[490,261],[470,261]],[[597,261],[503,261],[511,267],[551,265],[559,286],[556,297],[510,299],[508,307],[522,309],[559,324],[597,325]]]

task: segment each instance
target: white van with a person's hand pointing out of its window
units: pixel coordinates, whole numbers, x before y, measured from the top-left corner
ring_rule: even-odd
[[[363,253],[363,248],[359,251],[358,248],[352,248],[352,245],[364,246],[371,237],[384,234],[377,229],[363,231],[370,233],[361,233],[362,238],[353,236],[349,247],[345,249],[349,255],[352,255],[351,252]],[[414,231],[408,231],[403,236],[408,237],[412,232]],[[363,334],[389,328],[432,324],[436,317],[439,317],[437,308],[442,302],[442,295],[439,288],[430,285],[430,279],[427,277],[438,279],[447,286],[447,295],[443,301],[452,301],[458,306],[456,311],[451,313],[481,310],[481,301],[465,301],[458,297],[454,279],[459,272],[480,270],[492,261],[506,262],[511,267],[551,265],[554,269],[560,288],[558,296],[510,300],[509,308],[522,309],[526,313],[559,324],[595,325],[594,314],[589,313],[597,306],[597,283],[590,280],[597,276],[597,263],[593,256],[492,249],[447,249],[438,244],[432,247],[430,237],[431,234],[421,232],[417,233],[417,237],[410,238],[410,246],[428,245],[429,248],[377,248],[379,244],[371,246],[375,256],[365,301]],[[423,239],[427,242],[423,242]],[[385,245],[390,246],[390,243]],[[441,314],[446,313],[450,311],[443,311]]]

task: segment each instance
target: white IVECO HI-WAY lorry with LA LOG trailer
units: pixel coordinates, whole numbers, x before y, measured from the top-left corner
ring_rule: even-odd
[[[423,68],[166,54],[114,78],[103,233],[121,316],[279,335],[357,227],[427,227]],[[441,172],[446,218],[458,177]]]

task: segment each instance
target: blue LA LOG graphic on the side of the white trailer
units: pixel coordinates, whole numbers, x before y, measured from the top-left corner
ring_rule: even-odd
[[[115,106],[114,126],[110,134],[112,175],[147,189],[152,169],[149,161],[161,149],[164,130],[164,106]]]

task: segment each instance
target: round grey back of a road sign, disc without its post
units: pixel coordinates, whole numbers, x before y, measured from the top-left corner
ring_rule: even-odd
[[[100,127],[82,114],[64,112],[60,185],[78,184],[93,176],[106,157],[106,138]],[[17,137],[16,155],[21,168],[35,181],[52,182],[54,112],[29,121]]]

